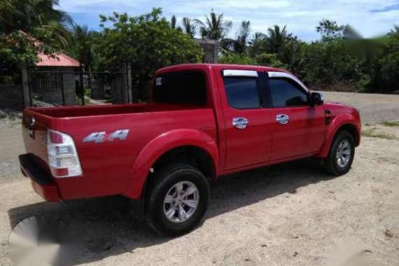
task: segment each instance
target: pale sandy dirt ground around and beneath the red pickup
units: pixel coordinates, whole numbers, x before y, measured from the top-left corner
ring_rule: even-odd
[[[225,177],[211,188],[204,223],[175,239],[130,218],[121,197],[43,202],[18,169],[19,123],[0,120],[0,265],[11,265],[11,228],[30,216],[78,232],[83,250],[73,265],[328,265],[349,241],[361,265],[399,265],[399,127],[374,123],[380,118],[367,115],[369,98],[359,107],[370,137],[348,174],[331,178],[300,160]],[[398,110],[389,120],[398,120]]]

